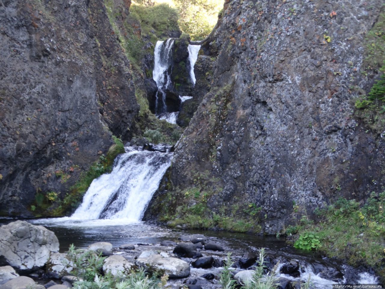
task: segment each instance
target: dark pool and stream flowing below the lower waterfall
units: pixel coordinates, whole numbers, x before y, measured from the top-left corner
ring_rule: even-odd
[[[0,219],[0,223],[12,221],[12,218]],[[122,244],[149,244],[149,246],[138,246],[138,250],[159,249],[159,243],[163,240],[179,241],[178,237],[181,235],[204,234],[209,237],[209,241],[217,242],[224,247],[225,252],[212,254],[220,259],[225,259],[226,252],[231,252],[233,259],[237,259],[246,252],[258,252],[261,247],[266,248],[267,255],[274,263],[280,261],[281,264],[285,264],[291,259],[296,259],[303,268],[301,276],[294,278],[280,274],[281,277],[291,281],[306,281],[308,276],[311,276],[316,288],[331,288],[333,283],[377,282],[377,278],[365,269],[355,269],[335,260],[322,258],[315,252],[297,250],[287,245],[283,238],[223,231],[171,230],[145,222],[124,223],[124,220],[81,221],[72,218],[53,218],[27,221],[35,225],[43,225],[55,232],[60,242],[61,252],[65,252],[70,244],[74,244],[77,248],[85,248],[94,242],[110,242],[114,247]],[[164,250],[172,251],[172,248],[164,248]],[[185,260],[192,261],[192,259]],[[208,270],[192,268],[191,276],[200,276],[206,271]],[[220,268],[209,269],[209,272],[219,274]]]

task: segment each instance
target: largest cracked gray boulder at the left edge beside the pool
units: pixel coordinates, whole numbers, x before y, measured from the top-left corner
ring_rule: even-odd
[[[54,232],[25,221],[0,227],[0,265],[22,271],[42,268],[51,253],[59,251]]]

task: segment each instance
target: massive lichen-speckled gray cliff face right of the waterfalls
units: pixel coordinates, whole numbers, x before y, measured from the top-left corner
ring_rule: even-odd
[[[385,143],[355,117],[354,99],[373,83],[365,37],[381,9],[380,0],[226,1],[209,45],[211,91],[176,147],[174,197],[157,195],[149,212],[260,207],[263,231],[275,233],[340,196],[380,191]],[[192,200],[191,188],[204,197]]]

